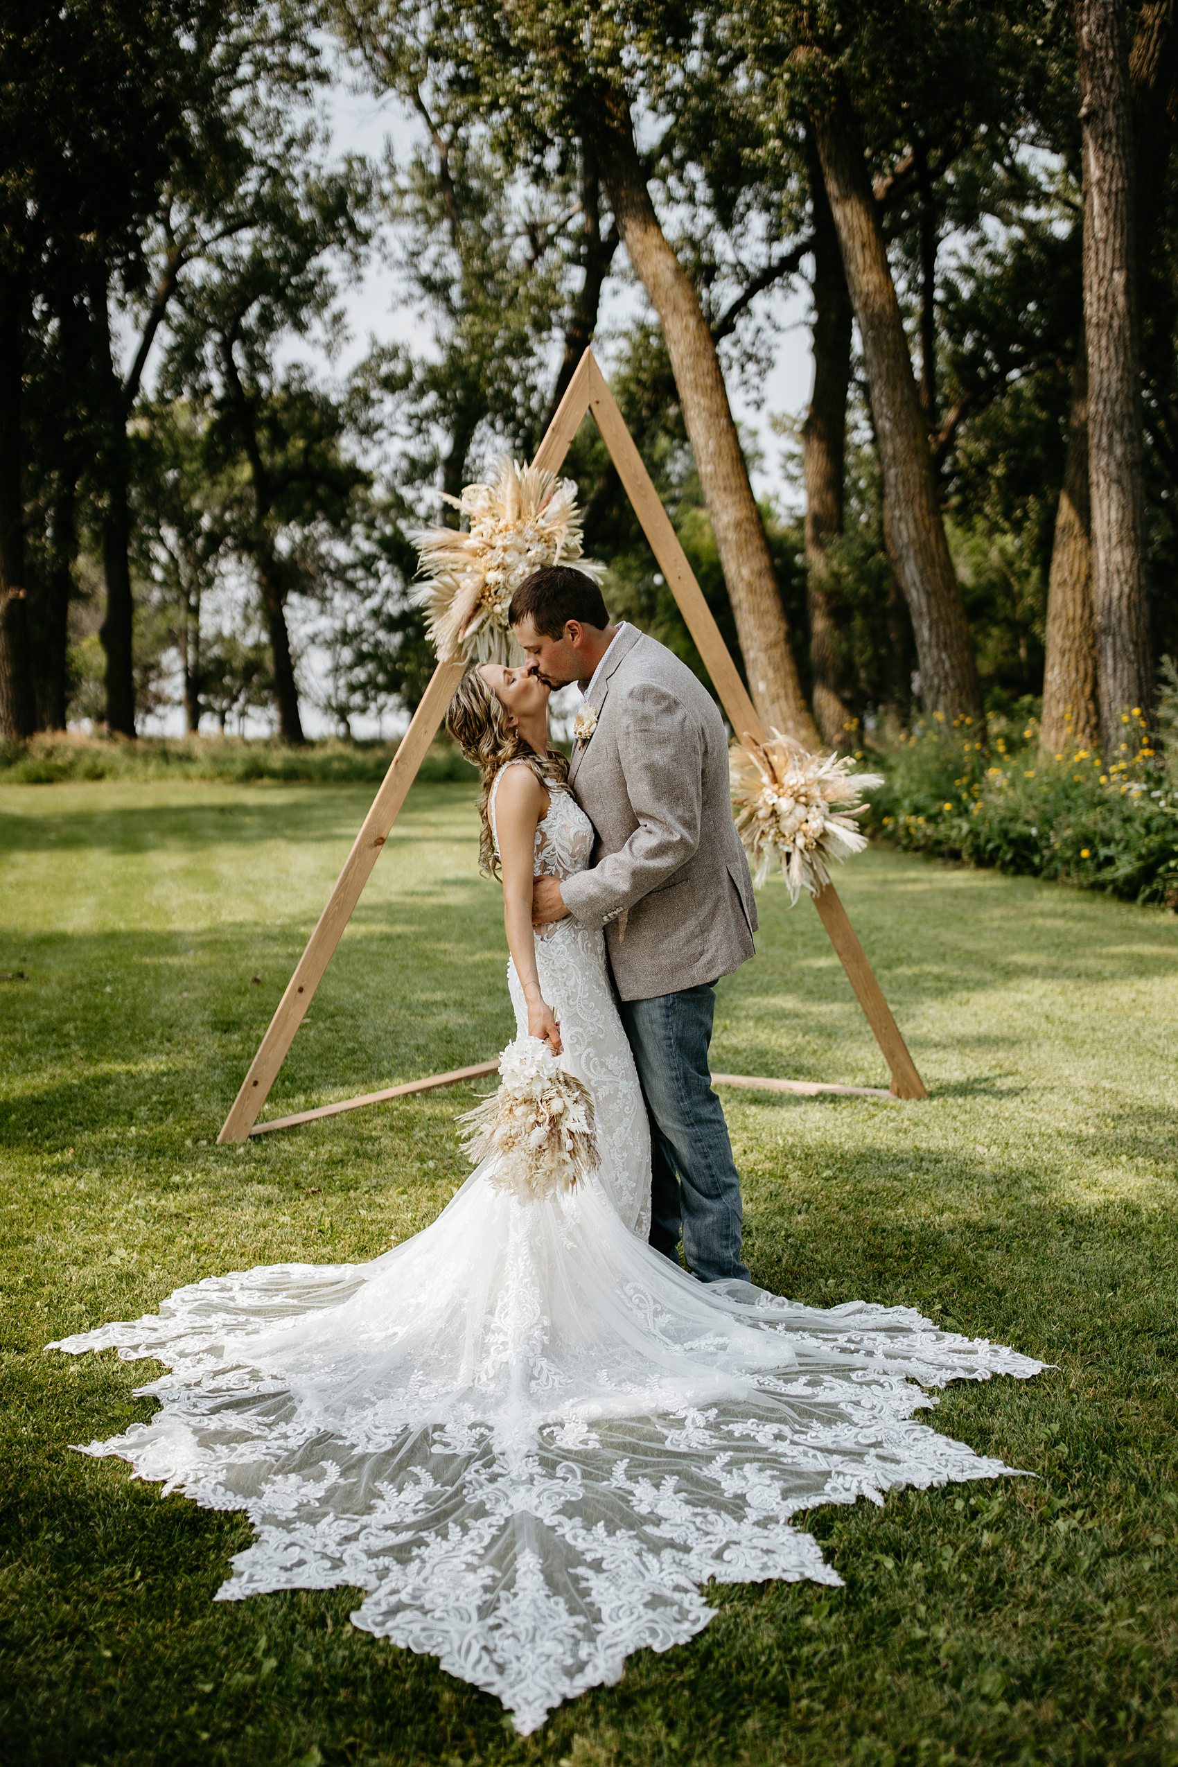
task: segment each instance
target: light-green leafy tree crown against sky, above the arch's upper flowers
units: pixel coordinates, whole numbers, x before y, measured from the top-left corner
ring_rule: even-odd
[[[480,445],[533,445],[551,405],[553,332],[562,322],[592,330],[613,242],[600,237],[592,168],[562,163],[537,180],[503,157],[427,14],[336,0],[334,18],[373,90],[417,125],[413,148],[396,155],[389,219],[406,304],[431,346],[406,341],[374,368],[394,394],[399,482],[422,502],[433,481],[457,497]]]

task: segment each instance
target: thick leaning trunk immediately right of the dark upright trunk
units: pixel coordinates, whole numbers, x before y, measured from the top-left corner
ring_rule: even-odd
[[[936,497],[929,431],[888,267],[858,124],[837,95],[811,118],[864,346],[888,553],[911,613],[920,698],[929,710],[984,723],[970,624]]]

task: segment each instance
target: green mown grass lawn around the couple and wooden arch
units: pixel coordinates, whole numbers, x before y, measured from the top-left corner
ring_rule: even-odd
[[[19,1763],[940,1767],[1178,1762],[1178,928],[872,850],[842,894],[925,1104],[728,1094],[754,1278],[908,1302],[1058,1364],[936,1424],[1037,1479],[809,1520],[846,1587],[714,1590],[691,1645],[521,1740],[350,1590],[214,1604],[249,1539],[69,1451],[152,1364],[44,1355],[178,1283],[371,1258],[464,1173],[456,1088],[215,1145],[366,786],[0,788],[0,1758]],[[818,915],[763,892],[721,1069],[878,1085]],[[509,1032],[473,793],[413,792],[267,1110],[491,1057]],[[23,972],[23,975],[16,975]]]

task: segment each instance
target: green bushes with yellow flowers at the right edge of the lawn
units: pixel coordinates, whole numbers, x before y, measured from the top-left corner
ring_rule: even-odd
[[[1107,765],[1042,755],[1033,719],[994,719],[989,747],[968,719],[922,721],[883,747],[869,825],[910,852],[1178,908],[1178,749],[1153,747],[1139,709],[1123,719]]]

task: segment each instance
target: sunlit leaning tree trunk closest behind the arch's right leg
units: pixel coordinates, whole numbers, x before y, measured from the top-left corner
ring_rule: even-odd
[[[666,337],[687,438],[728,583],[749,693],[766,724],[775,724],[814,749],[819,746],[818,728],[802,693],[761,512],[749,484],[699,295],[655,214],[625,102],[613,95],[604,99],[593,118],[593,131],[600,177],[618,233]]]

